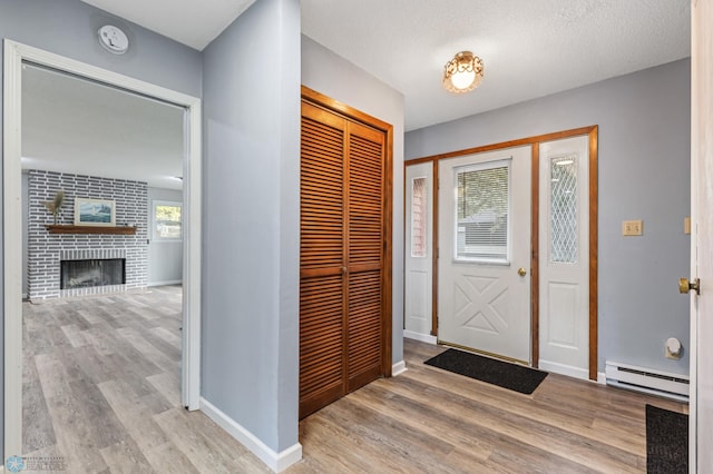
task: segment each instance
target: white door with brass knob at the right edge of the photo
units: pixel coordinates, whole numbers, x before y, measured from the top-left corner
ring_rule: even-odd
[[[690,471],[713,472],[713,3],[694,1],[691,87],[691,299]]]

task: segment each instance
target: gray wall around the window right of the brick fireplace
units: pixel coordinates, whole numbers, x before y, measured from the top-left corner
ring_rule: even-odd
[[[154,239],[154,200],[183,203],[183,191],[148,188],[148,286],[183,280],[183,240]]]

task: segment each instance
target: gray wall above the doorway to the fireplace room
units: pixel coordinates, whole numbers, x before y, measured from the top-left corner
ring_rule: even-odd
[[[131,50],[125,56],[111,55],[97,43],[96,31],[105,22],[114,22],[126,29],[131,40]],[[136,24],[117,20],[79,0],[0,0],[0,38],[41,48],[184,93],[201,96],[202,59],[198,51]],[[0,49],[0,59],[1,57]],[[1,99],[2,90],[0,101]],[[1,119],[0,116],[0,126]],[[4,238],[6,229],[2,229],[1,235]],[[2,273],[0,284],[3,284]],[[0,355],[3,354],[2,343],[0,334]],[[2,394],[0,378],[0,406]],[[0,446],[3,443],[2,436],[3,433],[0,431]]]

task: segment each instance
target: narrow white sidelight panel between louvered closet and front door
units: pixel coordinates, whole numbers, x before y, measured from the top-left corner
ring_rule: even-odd
[[[406,168],[406,337],[436,340],[432,282],[433,164],[429,161]]]

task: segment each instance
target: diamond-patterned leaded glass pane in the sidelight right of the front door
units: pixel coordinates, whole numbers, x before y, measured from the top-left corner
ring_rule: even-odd
[[[576,264],[577,233],[577,156],[551,158],[550,251],[556,264]]]

